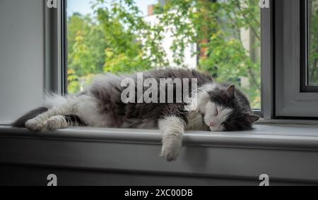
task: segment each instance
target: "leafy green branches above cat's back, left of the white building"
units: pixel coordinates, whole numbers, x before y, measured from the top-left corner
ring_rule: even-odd
[[[110,46],[105,49],[104,71],[109,73],[133,72],[147,70],[151,64],[143,54],[138,32],[146,30],[138,8],[127,4],[113,3],[112,8],[98,8],[98,22],[102,25],[105,39]]]

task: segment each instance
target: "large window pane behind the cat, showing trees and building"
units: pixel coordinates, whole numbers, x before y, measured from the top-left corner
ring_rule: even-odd
[[[99,73],[196,68],[261,108],[259,0],[67,0],[68,92]]]

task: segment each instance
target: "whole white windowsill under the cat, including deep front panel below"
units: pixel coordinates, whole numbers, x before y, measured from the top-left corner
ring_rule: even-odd
[[[177,161],[160,158],[158,130],[71,127],[28,132],[0,126],[0,163],[58,168],[318,182],[318,126],[255,125],[247,132],[184,135]]]

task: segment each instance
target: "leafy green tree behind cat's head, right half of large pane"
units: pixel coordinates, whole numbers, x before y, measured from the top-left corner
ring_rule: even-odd
[[[173,12],[177,11],[177,12]],[[242,88],[252,100],[254,108],[260,108],[259,51],[260,11],[258,0],[173,0],[158,5],[163,26],[172,25],[175,42],[175,61],[182,63],[185,44],[199,44],[199,69],[216,76],[220,82],[236,82],[249,77],[250,87]],[[242,30],[251,32],[252,48],[242,43]],[[252,39],[254,41],[252,41]],[[203,54],[203,55],[202,55]]]

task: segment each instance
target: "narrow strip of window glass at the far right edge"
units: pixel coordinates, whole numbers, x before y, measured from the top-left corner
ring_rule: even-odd
[[[309,77],[310,85],[318,85],[318,0],[308,2]]]

